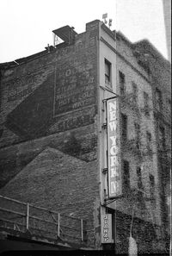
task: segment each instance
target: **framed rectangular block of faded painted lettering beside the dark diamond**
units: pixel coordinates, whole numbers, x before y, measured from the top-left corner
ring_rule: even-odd
[[[87,52],[57,65],[54,116],[95,104],[95,56]]]

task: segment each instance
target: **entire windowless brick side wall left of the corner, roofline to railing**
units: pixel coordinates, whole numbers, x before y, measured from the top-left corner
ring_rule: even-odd
[[[0,193],[99,226],[97,28],[2,70]]]

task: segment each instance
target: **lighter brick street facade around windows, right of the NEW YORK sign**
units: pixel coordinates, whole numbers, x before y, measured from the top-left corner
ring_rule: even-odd
[[[153,175],[155,178],[155,199],[157,203],[151,204],[145,200],[143,194],[142,205],[137,205],[136,215],[144,219],[144,221],[160,222],[159,212],[159,197],[158,190],[158,177],[157,177],[157,159],[156,159],[156,134],[154,127],[153,116],[153,102],[152,102],[152,88],[149,81],[149,76],[146,74],[141,66],[138,66],[137,59],[134,58],[132,48],[126,43],[126,41],[117,41],[117,50],[128,61],[124,61],[120,57],[117,57],[117,93],[120,94],[120,81],[119,71],[125,74],[125,95],[120,98],[120,111],[127,116],[127,140],[122,145],[122,159],[129,162],[130,167],[130,186],[131,189],[138,189],[138,175],[137,168],[141,168],[141,178],[143,183],[143,190],[147,195],[150,195],[151,184],[149,175]],[[134,100],[134,93],[132,89],[132,83],[137,86],[137,98]],[[144,111],[144,92],[149,97],[149,115]],[[135,129],[135,123],[140,126],[139,130],[139,149],[137,148],[137,132]],[[151,134],[151,151],[148,151],[146,132]],[[120,134],[121,136],[121,134]],[[122,137],[121,142],[122,142]],[[119,209],[126,209],[126,213],[131,214],[133,202],[135,197],[130,200],[126,200],[125,203],[119,201]],[[141,203],[141,202],[140,202]],[[124,205],[126,207],[124,207]],[[125,211],[124,211],[125,212]],[[151,217],[153,216],[153,219]]]

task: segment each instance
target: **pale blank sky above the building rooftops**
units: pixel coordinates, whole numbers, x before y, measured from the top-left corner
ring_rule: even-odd
[[[104,13],[111,29],[132,42],[148,39],[167,58],[162,0],[0,0],[0,63],[43,51],[53,29],[70,25],[82,33]]]

